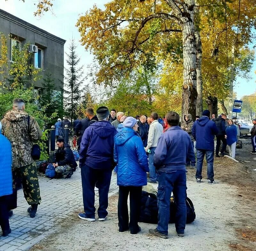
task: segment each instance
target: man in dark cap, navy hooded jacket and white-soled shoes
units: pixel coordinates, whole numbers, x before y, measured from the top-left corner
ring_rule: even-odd
[[[99,121],[93,123],[82,137],[80,167],[83,188],[84,213],[79,218],[95,221],[94,187],[99,188],[99,221],[105,221],[108,212],[108,191],[114,162],[114,136],[116,129],[108,122],[108,107],[96,111]]]

